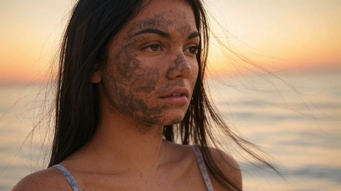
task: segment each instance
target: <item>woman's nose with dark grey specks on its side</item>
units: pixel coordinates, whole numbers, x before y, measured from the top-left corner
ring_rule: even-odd
[[[192,74],[192,67],[183,53],[179,53],[170,62],[166,74],[168,79],[188,78]]]

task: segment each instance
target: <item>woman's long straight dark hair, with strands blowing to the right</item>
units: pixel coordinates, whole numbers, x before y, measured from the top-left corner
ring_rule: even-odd
[[[238,190],[217,166],[210,147],[219,147],[215,128],[257,161],[268,164],[248,149],[251,143],[234,134],[211,104],[205,91],[209,26],[201,0],[186,0],[201,34],[197,55],[199,74],[184,120],[163,127],[165,139],[199,144],[207,168],[227,190]],[[62,162],[93,136],[99,122],[99,89],[91,82],[94,65],[102,63],[110,40],[141,8],[141,0],[79,0],[66,28],[59,55],[55,102],[55,134],[49,167]]]

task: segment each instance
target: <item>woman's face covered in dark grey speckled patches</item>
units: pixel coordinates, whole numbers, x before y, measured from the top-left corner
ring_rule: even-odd
[[[151,0],[142,7],[111,42],[101,68],[102,98],[133,120],[180,123],[198,75],[194,14],[183,0]]]

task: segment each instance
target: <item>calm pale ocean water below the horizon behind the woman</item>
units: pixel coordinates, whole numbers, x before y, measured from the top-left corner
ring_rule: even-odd
[[[208,80],[227,124],[262,146],[284,177],[235,155],[245,191],[341,191],[340,81],[341,72]],[[36,120],[38,89],[0,86],[0,191],[11,190],[22,177],[43,168],[44,131],[22,144]]]

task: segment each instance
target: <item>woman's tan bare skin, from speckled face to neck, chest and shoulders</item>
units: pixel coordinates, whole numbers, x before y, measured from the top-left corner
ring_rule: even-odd
[[[60,163],[83,191],[207,191],[192,148],[162,137],[162,127],[181,122],[188,108],[198,74],[197,34],[184,1],[151,0],[115,35],[107,62],[92,77],[101,93],[99,127]],[[164,99],[169,93],[185,102]],[[238,164],[212,151],[241,189]],[[212,176],[211,181],[215,191],[225,191]],[[23,178],[12,191],[61,190],[72,188],[51,167]]]

